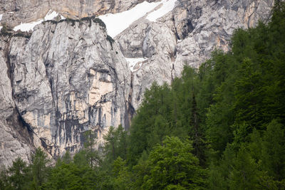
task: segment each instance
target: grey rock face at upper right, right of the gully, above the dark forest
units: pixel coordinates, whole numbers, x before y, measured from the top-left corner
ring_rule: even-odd
[[[273,0],[193,1],[185,19],[182,17],[183,9],[177,6],[173,13],[175,25],[183,22],[188,25],[177,29],[177,36],[182,41],[177,43],[175,65],[178,68],[175,68],[175,73],[181,71],[179,63],[199,66],[215,48],[229,51],[229,40],[234,30],[256,26],[259,20],[269,21],[273,5]],[[184,35],[185,28],[187,35]]]

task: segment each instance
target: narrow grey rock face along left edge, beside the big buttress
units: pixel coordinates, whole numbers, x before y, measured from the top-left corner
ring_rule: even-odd
[[[3,40],[3,41],[2,41]],[[5,40],[5,41],[4,41]],[[10,165],[16,157],[28,161],[31,153],[31,132],[21,123],[13,98],[9,67],[6,64],[8,38],[0,41],[0,165]]]

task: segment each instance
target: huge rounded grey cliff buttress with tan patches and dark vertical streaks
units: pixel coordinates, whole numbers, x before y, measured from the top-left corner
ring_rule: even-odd
[[[53,157],[78,151],[86,130],[97,132],[100,143],[108,127],[129,125],[130,68],[95,21],[38,25],[31,38],[10,38],[9,61],[1,59],[11,75],[1,70],[1,110],[10,107],[4,118],[16,109],[31,129],[31,144]]]

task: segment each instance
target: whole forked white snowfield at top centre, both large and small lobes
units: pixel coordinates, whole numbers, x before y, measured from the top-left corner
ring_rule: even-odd
[[[99,19],[105,23],[108,35],[114,38],[119,33],[128,28],[134,21],[137,21],[143,16],[146,16],[157,6],[159,6],[156,11],[151,12],[147,16],[148,20],[156,21],[156,19],[164,16],[168,12],[172,11],[172,9],[174,9],[175,1],[177,0],[162,0],[160,2],[152,3],[143,1],[141,4],[137,4],[133,9],[123,11],[118,14],[105,14],[99,16]]]

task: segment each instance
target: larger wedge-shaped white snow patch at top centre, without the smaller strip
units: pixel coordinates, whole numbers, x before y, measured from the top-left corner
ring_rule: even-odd
[[[152,11],[159,4],[161,4],[161,2],[149,3],[144,1],[141,4],[136,5],[133,9],[118,14],[105,14],[99,16],[99,19],[105,23],[108,34],[114,38],[128,28],[131,23],[142,18],[142,16],[145,16],[147,12]]]

